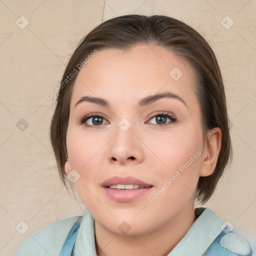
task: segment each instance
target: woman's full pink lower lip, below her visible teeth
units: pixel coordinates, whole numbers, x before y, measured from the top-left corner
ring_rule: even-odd
[[[105,193],[113,200],[118,202],[131,202],[142,195],[147,194],[152,186],[133,189],[117,189],[103,187]]]

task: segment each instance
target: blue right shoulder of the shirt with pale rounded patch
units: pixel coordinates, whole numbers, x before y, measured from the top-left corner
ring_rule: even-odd
[[[222,231],[203,255],[251,256],[252,250],[244,237],[232,231]]]

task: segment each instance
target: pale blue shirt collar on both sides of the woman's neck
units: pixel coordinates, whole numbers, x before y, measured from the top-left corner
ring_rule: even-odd
[[[167,256],[202,255],[221,233],[221,226],[225,221],[216,216],[210,208],[198,207],[194,213],[198,217]],[[96,255],[94,219],[88,210],[81,219],[74,252],[76,256],[83,256],[85,252],[87,255]]]

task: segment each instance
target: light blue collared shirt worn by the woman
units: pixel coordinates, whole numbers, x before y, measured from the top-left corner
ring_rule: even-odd
[[[167,256],[252,255],[249,243],[230,231],[230,226],[210,208],[195,208],[195,214],[198,217]],[[82,217],[64,218],[31,234],[22,241],[14,256],[59,256],[61,249],[64,253],[72,247],[75,256],[97,255],[94,219],[88,210]],[[70,256],[70,252],[65,253],[61,256]]]

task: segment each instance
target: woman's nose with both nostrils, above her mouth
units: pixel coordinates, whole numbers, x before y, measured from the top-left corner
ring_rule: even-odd
[[[131,125],[126,131],[117,126],[115,131],[115,135],[107,144],[108,161],[122,165],[143,161],[143,144],[138,139],[138,132],[136,132],[137,134],[134,133],[133,126]]]

